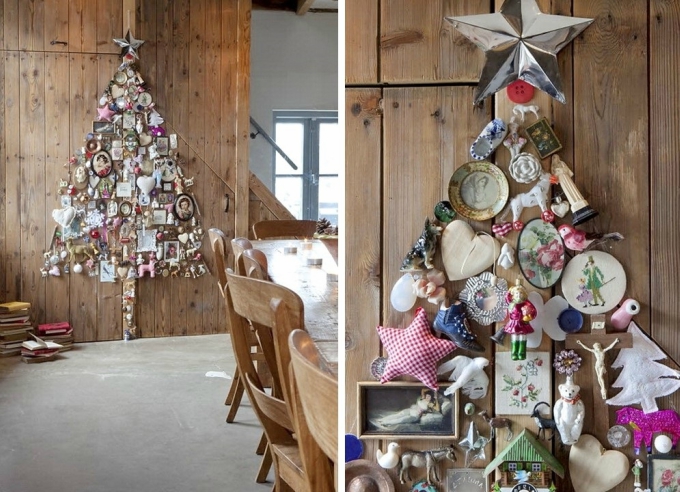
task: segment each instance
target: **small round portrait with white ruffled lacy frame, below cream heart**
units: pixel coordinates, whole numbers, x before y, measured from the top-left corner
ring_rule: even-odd
[[[508,283],[497,277],[496,285],[493,285],[493,277],[491,272],[470,277],[458,296],[467,304],[468,317],[484,326],[503,321],[508,309],[508,302],[505,300]]]

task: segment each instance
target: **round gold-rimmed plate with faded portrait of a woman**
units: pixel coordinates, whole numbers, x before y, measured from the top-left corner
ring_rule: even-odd
[[[463,217],[487,220],[508,201],[508,180],[489,161],[472,161],[456,169],[449,181],[449,201]]]

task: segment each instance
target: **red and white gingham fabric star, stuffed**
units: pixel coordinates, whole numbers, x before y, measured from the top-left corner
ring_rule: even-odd
[[[437,389],[437,362],[453,351],[456,344],[432,334],[423,308],[416,309],[408,328],[378,326],[378,335],[389,355],[381,383],[409,375],[428,388]]]

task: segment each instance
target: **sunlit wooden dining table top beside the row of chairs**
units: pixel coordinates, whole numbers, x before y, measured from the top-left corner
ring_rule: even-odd
[[[328,366],[337,372],[338,364],[338,267],[321,241],[261,239],[253,248],[267,255],[272,281],[288,287],[305,305],[305,329],[316,342]],[[285,248],[296,247],[297,253]],[[308,258],[320,258],[320,266],[307,264]]]

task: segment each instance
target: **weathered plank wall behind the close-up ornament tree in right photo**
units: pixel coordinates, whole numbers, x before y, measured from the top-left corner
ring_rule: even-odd
[[[376,325],[406,326],[412,319],[413,312],[398,313],[389,303],[404,254],[420,234],[424,217],[432,216],[434,204],[448,199],[451,173],[471,160],[469,145],[485,122],[495,116],[508,121],[511,116],[512,103],[504,91],[473,109],[472,91],[483,67],[483,53],[443,17],[490,13],[502,3],[491,2],[491,7],[472,0],[345,3],[347,432],[358,430],[356,383],[371,380],[370,363],[383,355]],[[625,236],[611,252],[626,270],[626,296],[643,306],[636,320],[680,360],[676,335],[680,260],[674,246],[680,236],[675,226],[680,209],[680,174],[675,164],[680,158],[676,95],[680,77],[673,68],[680,56],[680,2],[634,0],[624,6],[616,0],[539,0],[538,4],[543,12],[595,19],[558,56],[567,104],[538,92],[533,103],[553,122],[563,144],[560,156],[572,167],[583,195],[600,212],[582,228]],[[499,150],[496,158],[507,163],[506,149]],[[549,160],[544,168],[549,169]],[[511,183],[511,196],[526,188]],[[527,211],[522,219],[536,215]],[[476,230],[490,227],[489,222],[472,225]],[[507,240],[516,238],[511,233]],[[520,275],[515,267],[503,276],[514,281]],[[457,294],[463,285],[447,287]],[[560,291],[541,293],[548,299]],[[435,308],[426,309],[433,319]],[[488,346],[491,330],[479,326],[475,330]],[[553,353],[562,348],[549,340],[542,345]],[[615,423],[616,407],[592,416],[599,387],[591,357],[583,355],[576,380],[591,409],[584,433],[594,434],[609,447],[606,433]],[[610,354],[608,361],[613,358]],[[609,371],[610,383],[617,374]],[[555,379],[553,387],[561,382]],[[490,398],[475,403],[493,410]],[[680,396],[660,399],[659,405],[680,408]],[[516,427],[536,432],[530,419],[512,418]],[[461,432],[468,422],[462,419]],[[480,432],[488,431],[479,418],[475,422]],[[384,450],[387,443],[367,440],[364,444],[364,456],[373,459],[375,448]],[[437,444],[401,442],[403,449]],[[497,439],[493,452],[487,449],[487,461],[474,466],[483,467],[504,445]],[[633,450],[625,451],[632,460]],[[566,465],[568,449],[557,446],[555,453]],[[463,460],[461,451],[457,466],[463,466]],[[632,482],[631,476],[615,490],[630,490]],[[409,490],[395,483],[397,490]],[[571,490],[568,474],[557,486]]]

